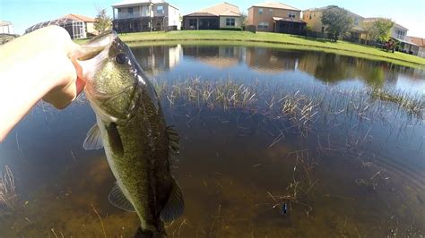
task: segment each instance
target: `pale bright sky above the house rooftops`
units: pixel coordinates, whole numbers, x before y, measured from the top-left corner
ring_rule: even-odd
[[[112,16],[112,4],[122,0],[0,0],[0,20],[12,21],[15,33],[41,21],[57,19],[68,13],[95,17],[97,9],[107,9]],[[167,1],[167,0],[166,0]],[[195,12],[223,0],[169,0],[182,15]],[[243,13],[262,0],[226,0],[236,4]],[[270,1],[269,1],[270,2]],[[425,38],[425,0],[281,0],[301,10],[325,5],[338,5],[363,17],[386,17],[409,29],[407,35]]]

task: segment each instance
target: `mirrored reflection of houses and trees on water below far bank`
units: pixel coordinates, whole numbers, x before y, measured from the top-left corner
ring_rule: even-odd
[[[197,71],[208,71],[209,75],[214,73],[209,68],[191,67],[200,63],[215,69],[237,71],[244,76],[258,72],[276,75],[305,72],[320,81],[360,80],[376,87],[395,85],[403,78],[416,83],[421,81],[421,87],[425,89],[423,70],[346,55],[266,47],[181,45],[135,47],[133,52],[143,69],[156,76],[169,72],[178,64],[189,67],[195,74],[201,74]]]

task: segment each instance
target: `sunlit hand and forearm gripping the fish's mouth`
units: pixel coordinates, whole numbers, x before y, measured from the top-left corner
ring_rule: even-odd
[[[65,108],[82,92],[82,49],[65,29],[49,26],[0,46],[0,142],[43,98]]]

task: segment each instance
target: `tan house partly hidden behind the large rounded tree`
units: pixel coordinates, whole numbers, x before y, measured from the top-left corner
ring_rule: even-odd
[[[304,10],[302,11],[302,20],[307,22],[308,26],[311,28],[312,31],[322,34],[322,37],[325,38],[326,27],[322,24],[322,15],[325,10],[333,8],[340,7],[336,5],[328,5],[325,7],[310,8]],[[365,34],[365,30],[363,30],[361,26],[365,18],[348,10],[345,11],[347,11],[348,15],[351,17],[353,24],[350,30],[349,40],[354,42],[360,42],[360,39],[363,38],[363,35]]]

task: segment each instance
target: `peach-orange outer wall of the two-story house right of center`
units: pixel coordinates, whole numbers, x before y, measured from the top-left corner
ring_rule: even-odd
[[[259,10],[263,9],[263,13],[260,14]],[[253,6],[248,10],[248,22],[250,25],[256,25],[257,31],[269,31],[273,32],[273,17],[289,17],[290,13],[295,14],[295,20],[300,20],[300,11],[291,11],[286,9],[268,8],[268,7],[256,7]],[[266,29],[259,28],[258,25],[261,22],[268,22]],[[263,24],[264,25],[264,24]]]

